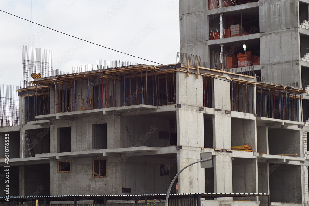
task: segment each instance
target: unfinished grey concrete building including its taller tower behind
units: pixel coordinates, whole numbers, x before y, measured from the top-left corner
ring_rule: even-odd
[[[10,136],[10,195],[61,204],[60,195],[165,194],[211,152],[213,168],[189,167],[171,193],[266,193],[272,205],[308,205],[308,5],[180,0],[172,65],[98,61],[49,76],[33,71],[52,68],[48,52],[44,64],[28,61],[19,124],[0,128],[0,145]],[[0,174],[5,165],[0,147]],[[267,196],[227,196],[201,204],[268,205]]]

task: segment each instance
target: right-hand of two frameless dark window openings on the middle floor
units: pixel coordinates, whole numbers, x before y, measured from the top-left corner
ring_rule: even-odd
[[[92,149],[107,149],[107,124],[92,124]]]

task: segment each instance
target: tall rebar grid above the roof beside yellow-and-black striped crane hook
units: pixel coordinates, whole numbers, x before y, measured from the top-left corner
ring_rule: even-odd
[[[41,74],[41,77],[53,76],[52,51],[23,46],[23,84],[22,87],[33,86],[31,74]]]

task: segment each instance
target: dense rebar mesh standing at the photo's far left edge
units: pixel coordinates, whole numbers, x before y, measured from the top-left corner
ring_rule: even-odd
[[[0,127],[19,125],[18,86],[0,84]]]

